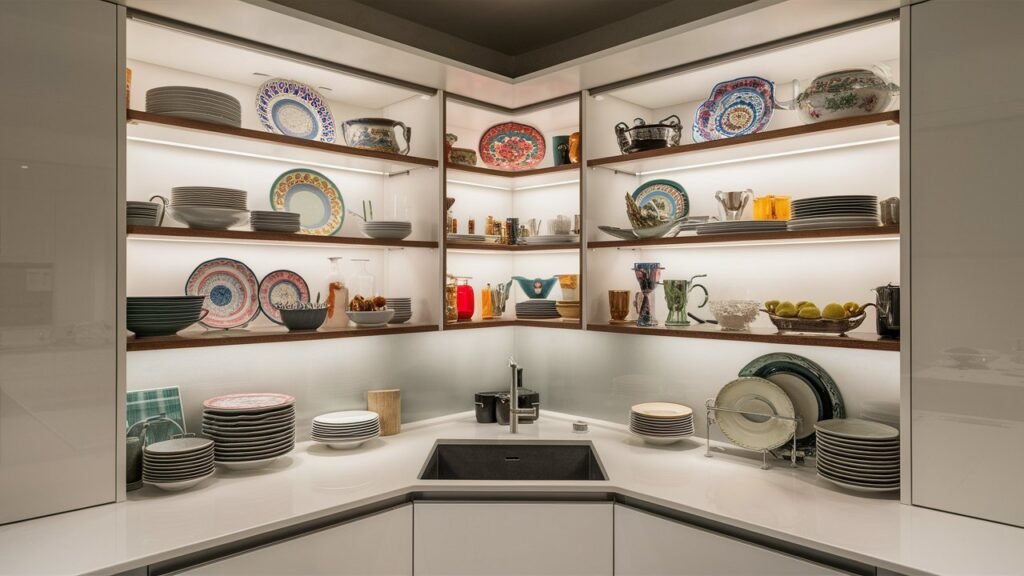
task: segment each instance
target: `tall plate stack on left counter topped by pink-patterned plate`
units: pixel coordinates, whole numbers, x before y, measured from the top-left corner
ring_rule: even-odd
[[[232,394],[203,403],[203,436],[228,468],[269,465],[295,447],[295,399],[285,394]]]

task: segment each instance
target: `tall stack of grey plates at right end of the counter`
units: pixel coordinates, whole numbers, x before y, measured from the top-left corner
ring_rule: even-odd
[[[899,490],[899,430],[870,420],[821,420],[817,433],[818,476],[850,490]]]

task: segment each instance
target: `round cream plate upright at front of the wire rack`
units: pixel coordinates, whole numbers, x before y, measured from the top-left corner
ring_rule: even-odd
[[[715,406],[755,414],[774,414],[792,418],[796,411],[793,401],[782,388],[770,380],[741,377],[722,386]],[[737,412],[717,412],[719,429],[736,446],[749,450],[772,450],[788,442],[796,433],[797,422]]]

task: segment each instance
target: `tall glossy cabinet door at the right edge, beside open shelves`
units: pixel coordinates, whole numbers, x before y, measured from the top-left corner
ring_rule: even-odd
[[[910,7],[914,504],[1024,526],[1024,2]]]

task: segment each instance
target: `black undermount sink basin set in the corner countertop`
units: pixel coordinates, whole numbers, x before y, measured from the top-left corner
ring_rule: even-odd
[[[607,480],[590,442],[439,440],[420,480]]]

